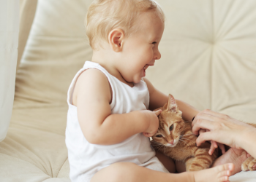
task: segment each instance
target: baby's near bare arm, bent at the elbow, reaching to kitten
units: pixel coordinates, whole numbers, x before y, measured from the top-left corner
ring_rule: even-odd
[[[89,143],[110,145],[124,141],[139,132],[152,132],[154,128],[157,132],[158,119],[152,111],[111,114],[110,84],[102,71],[83,71],[78,77],[75,92],[78,121]],[[157,124],[153,129],[152,122]]]

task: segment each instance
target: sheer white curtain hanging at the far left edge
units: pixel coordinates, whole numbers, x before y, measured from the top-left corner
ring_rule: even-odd
[[[7,135],[15,92],[19,1],[0,1],[0,142]]]

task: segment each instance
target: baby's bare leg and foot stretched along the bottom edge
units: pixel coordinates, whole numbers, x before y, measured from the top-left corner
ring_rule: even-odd
[[[131,162],[118,162],[100,170],[91,178],[91,182],[219,182],[228,181],[232,170],[233,164],[226,164],[197,172],[172,174],[150,170]]]

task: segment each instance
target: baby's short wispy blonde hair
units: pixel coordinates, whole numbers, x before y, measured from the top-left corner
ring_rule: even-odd
[[[134,24],[142,12],[154,11],[165,23],[165,14],[154,0],[94,0],[86,15],[86,35],[93,50],[108,42],[108,34],[121,28],[125,36],[137,31]]]

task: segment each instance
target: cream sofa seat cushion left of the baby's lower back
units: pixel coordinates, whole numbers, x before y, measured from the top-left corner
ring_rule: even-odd
[[[67,107],[14,108],[0,143],[1,181],[69,180],[64,132]]]

